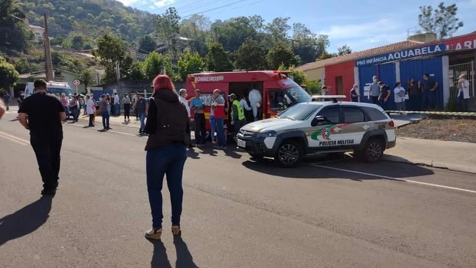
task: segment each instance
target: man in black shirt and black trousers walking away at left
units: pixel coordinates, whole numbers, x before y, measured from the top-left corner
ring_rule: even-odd
[[[63,139],[61,121],[66,113],[60,100],[47,92],[45,80],[36,80],[35,93],[25,98],[18,119],[30,130],[30,143],[36,154],[43,180],[42,195],[55,195],[60,173],[60,151]]]

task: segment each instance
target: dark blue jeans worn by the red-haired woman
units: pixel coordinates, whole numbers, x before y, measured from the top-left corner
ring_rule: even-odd
[[[172,204],[172,225],[180,226],[182,213],[182,175],[187,159],[187,150],[181,143],[169,143],[160,148],[147,151],[146,173],[147,193],[152,212],[152,227],[162,228],[162,184],[164,175],[170,192]]]

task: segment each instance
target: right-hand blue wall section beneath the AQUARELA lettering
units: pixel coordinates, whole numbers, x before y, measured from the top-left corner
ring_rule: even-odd
[[[416,82],[423,80],[423,74],[429,73],[430,79],[438,82],[436,88],[436,109],[444,109],[443,100],[443,63],[442,57],[413,60],[400,63],[400,81],[402,86],[408,87],[408,80],[414,79]]]

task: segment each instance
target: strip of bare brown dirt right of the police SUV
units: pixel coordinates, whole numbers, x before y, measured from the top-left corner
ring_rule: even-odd
[[[397,135],[476,143],[476,117],[429,116],[399,128]]]

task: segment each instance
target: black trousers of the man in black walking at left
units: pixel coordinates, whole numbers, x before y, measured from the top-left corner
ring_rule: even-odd
[[[46,190],[55,190],[58,187],[62,140],[62,132],[48,135],[30,134],[30,143],[40,168],[43,188]]]

